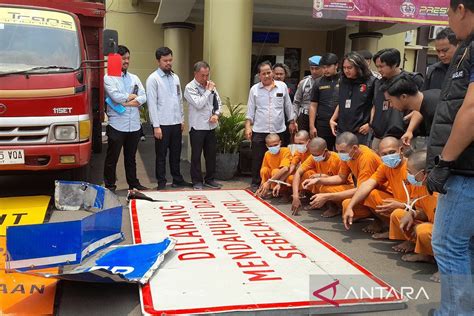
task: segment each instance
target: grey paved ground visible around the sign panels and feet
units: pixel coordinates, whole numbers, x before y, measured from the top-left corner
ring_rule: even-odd
[[[91,182],[101,183],[104,154],[95,155],[91,170]],[[156,187],[154,177],[153,140],[141,142],[139,146],[138,175],[143,185]],[[127,184],[123,172],[123,161],[119,162],[117,194],[125,205]],[[189,164],[182,163],[182,172],[189,179]],[[62,175],[66,176],[66,175]],[[53,180],[57,175],[0,176],[0,196],[53,194]],[[249,178],[223,182],[225,188],[245,188]],[[290,205],[274,204],[281,211],[290,214]],[[58,214],[51,215],[52,221],[61,220]],[[351,231],[345,231],[340,219],[323,219],[319,212],[302,212],[296,220],[316,235],[354,259],[375,275],[395,288],[414,287],[415,293],[421,287],[430,300],[411,300],[407,308],[399,311],[369,313],[369,315],[426,315],[439,302],[439,284],[431,282],[429,276],[436,268],[432,264],[406,263],[400,255],[391,250],[390,241],[375,241],[362,233],[364,223],[356,223]],[[124,243],[130,243],[130,222],[128,209],[124,208]],[[178,286],[178,285],[177,285]],[[90,283],[61,282],[56,297],[56,311],[59,315],[140,315],[138,289],[134,285],[100,285]]]

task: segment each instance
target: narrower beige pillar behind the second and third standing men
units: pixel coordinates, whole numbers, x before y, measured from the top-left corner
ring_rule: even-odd
[[[173,51],[173,71],[179,76],[181,85],[184,87],[191,81],[190,51],[191,32],[195,25],[191,23],[164,23],[164,46]]]

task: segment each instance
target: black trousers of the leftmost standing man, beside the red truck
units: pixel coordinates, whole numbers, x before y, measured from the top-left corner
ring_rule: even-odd
[[[137,163],[135,155],[137,153],[138,142],[142,130],[136,132],[121,132],[110,125],[107,125],[107,155],[104,164],[104,183],[107,188],[115,189],[117,181],[116,169],[117,161],[123,147],[125,175],[129,186],[138,185]]]

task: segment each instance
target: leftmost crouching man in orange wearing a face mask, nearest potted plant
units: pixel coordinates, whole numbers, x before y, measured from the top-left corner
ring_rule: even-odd
[[[271,197],[270,189],[275,187],[275,183],[270,180],[285,181],[290,170],[291,152],[290,149],[281,148],[281,140],[278,134],[268,134],[265,137],[265,143],[268,151],[263,157],[262,167],[260,168],[260,177],[262,182],[260,188],[255,194],[262,198]]]

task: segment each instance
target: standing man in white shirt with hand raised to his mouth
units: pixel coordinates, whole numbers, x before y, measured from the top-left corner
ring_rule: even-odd
[[[194,79],[186,85],[184,97],[189,104],[189,136],[191,140],[191,179],[195,190],[203,186],[220,189],[214,181],[216,170],[216,134],[222,102],[214,82],[209,80],[209,64],[198,61],[194,65]],[[203,181],[201,154],[206,160]]]

